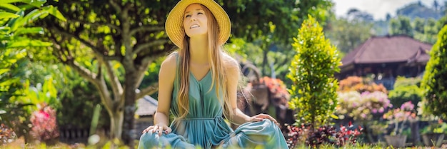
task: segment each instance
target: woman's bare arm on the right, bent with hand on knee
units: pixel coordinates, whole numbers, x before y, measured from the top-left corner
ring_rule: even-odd
[[[250,117],[238,109],[237,88],[238,88],[239,77],[241,76],[239,64],[236,60],[234,60],[230,56],[226,56],[226,58],[224,58],[224,61],[226,61],[225,62],[226,73],[227,73],[226,77],[228,77],[226,89],[228,91],[228,98],[231,103],[231,107],[233,108],[233,115],[230,117],[231,118],[230,121],[238,125],[241,125],[243,123],[261,121],[267,118],[278,124],[276,120],[272,118],[270,115],[258,114]]]

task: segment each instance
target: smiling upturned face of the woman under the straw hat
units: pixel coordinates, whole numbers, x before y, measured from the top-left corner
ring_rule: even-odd
[[[187,36],[206,36],[208,33],[208,19],[200,4],[191,4],[186,7],[184,14],[184,29]]]

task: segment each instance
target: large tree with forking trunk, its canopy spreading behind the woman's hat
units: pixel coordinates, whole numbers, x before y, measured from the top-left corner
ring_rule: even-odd
[[[164,32],[164,22],[177,2],[64,1],[54,5],[67,21],[38,22],[49,31],[47,38],[54,43],[49,52],[99,91],[101,102],[111,117],[111,137],[122,138],[131,147],[135,133],[135,101],[157,91],[156,83],[141,88],[144,74],[151,63],[166,56],[174,47]],[[293,27],[301,20],[298,17],[304,16],[295,14],[316,14],[323,19],[324,13],[320,12],[331,4],[326,0],[218,2],[233,21],[233,36],[247,41],[270,38],[268,35],[277,41],[288,39],[290,33],[296,31]],[[276,24],[287,26],[271,34],[270,27]],[[122,80],[116,69],[123,70]],[[140,88],[138,93],[137,88]]]

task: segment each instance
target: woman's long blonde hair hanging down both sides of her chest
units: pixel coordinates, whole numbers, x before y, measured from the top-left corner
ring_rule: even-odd
[[[201,4],[200,4],[201,5]],[[222,106],[224,107],[224,115],[226,118],[230,118],[233,115],[233,107],[231,106],[231,103],[228,98],[228,91],[227,91],[227,78],[226,71],[224,70],[224,63],[223,63],[223,57],[224,57],[224,51],[222,50],[223,47],[218,44],[217,40],[219,38],[219,26],[217,24],[216,18],[213,16],[211,11],[209,11],[206,6],[201,5],[202,9],[204,9],[206,17],[208,18],[208,49],[209,49],[209,65],[210,65],[210,71],[211,71],[211,88],[209,88],[209,91],[213,88],[213,86],[216,87],[216,95],[219,98],[220,93],[222,93],[222,97],[224,98],[224,102],[221,102]],[[180,88],[179,93],[177,96],[178,100],[178,108],[179,108],[179,118],[185,118],[186,115],[189,113],[189,59],[191,56],[189,55],[189,37],[184,36],[183,40],[183,47],[180,47],[179,50],[179,56],[180,56],[180,71],[179,75],[180,77]],[[221,91],[221,92],[220,92]]]

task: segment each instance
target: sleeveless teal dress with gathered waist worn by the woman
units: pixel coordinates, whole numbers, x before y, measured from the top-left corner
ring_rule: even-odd
[[[179,66],[179,65],[177,65]],[[171,99],[171,113],[178,117],[179,75],[176,75]],[[222,118],[223,108],[216,96],[215,87],[211,87],[211,72],[201,81],[190,73],[189,114],[186,118],[175,119],[170,127],[172,132],[144,133],[141,135],[139,148],[288,148],[286,140],[275,123],[271,120],[248,122],[232,130]],[[220,94],[221,95],[221,94]]]

